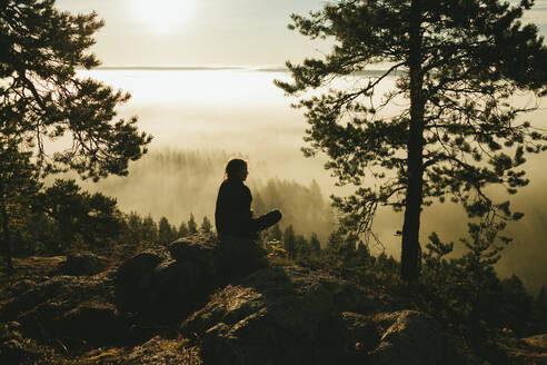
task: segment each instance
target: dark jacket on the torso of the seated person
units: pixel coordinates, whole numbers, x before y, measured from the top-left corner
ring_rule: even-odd
[[[220,184],[215,209],[215,225],[219,235],[247,236],[252,231],[250,189],[238,179]]]

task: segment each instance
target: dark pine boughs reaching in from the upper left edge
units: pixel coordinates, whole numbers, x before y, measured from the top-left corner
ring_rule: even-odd
[[[0,149],[18,161],[28,161],[31,154],[32,164],[26,162],[24,170],[33,169],[34,176],[67,169],[93,179],[127,175],[129,160],[140,158],[151,140],[138,132],[137,118],[113,121],[116,107],[129,93],[76,76],[79,67],[99,65],[89,48],[103,22],[95,12],[72,16],[53,4],[53,0],[0,3]],[[47,142],[61,137],[70,138],[69,147],[48,151]],[[26,186],[13,194],[22,194]],[[1,207],[10,204],[0,201]],[[8,226],[10,211],[14,210],[4,209]],[[4,234],[9,236],[6,229]]]

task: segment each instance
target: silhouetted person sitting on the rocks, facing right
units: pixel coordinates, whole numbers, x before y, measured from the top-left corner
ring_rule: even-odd
[[[231,236],[255,239],[260,230],[281,220],[282,215],[278,209],[258,218],[252,217],[252,195],[245,185],[248,175],[247,161],[240,158],[231,158],[226,165],[215,208],[215,225],[219,238]]]

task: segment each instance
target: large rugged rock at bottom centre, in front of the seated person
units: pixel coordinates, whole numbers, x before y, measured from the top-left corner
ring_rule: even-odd
[[[300,267],[260,270],[181,327],[206,364],[450,364],[431,317]],[[394,312],[395,310],[395,312]]]

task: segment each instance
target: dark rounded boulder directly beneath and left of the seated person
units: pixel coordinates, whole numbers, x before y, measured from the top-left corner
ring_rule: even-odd
[[[126,313],[172,322],[203,305],[215,287],[265,267],[255,243],[195,235],[146,250],[118,269],[116,303]]]

